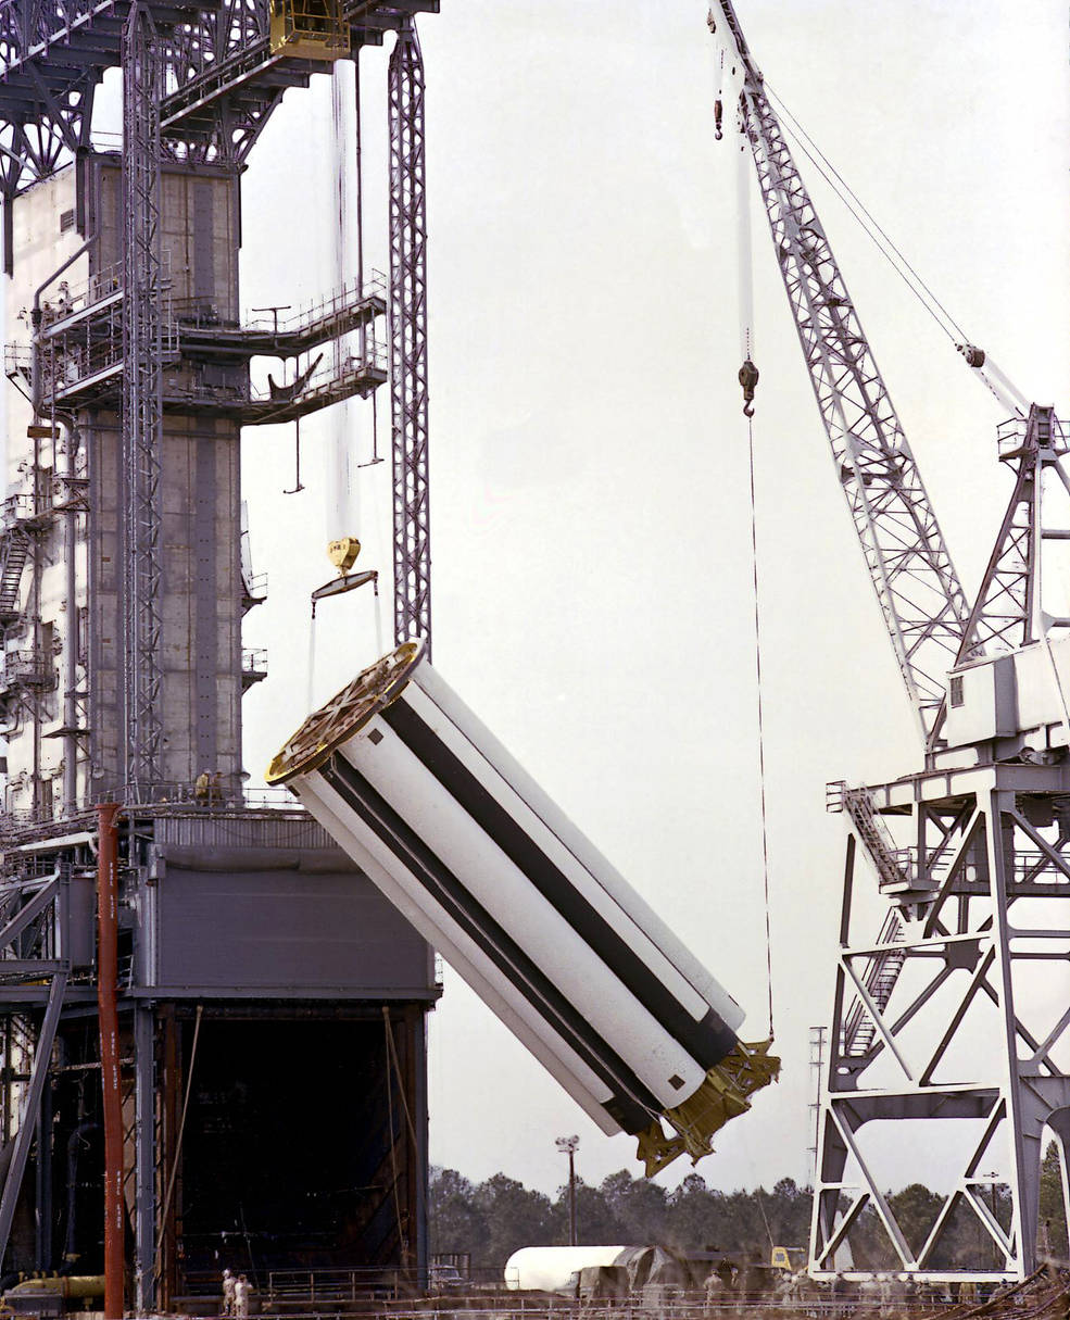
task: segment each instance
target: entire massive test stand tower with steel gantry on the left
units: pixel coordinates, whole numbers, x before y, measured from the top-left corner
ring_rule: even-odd
[[[135,1243],[117,1296],[115,1251],[104,1253],[110,1315],[121,1313],[124,1286],[140,1309],[197,1291],[248,1209],[227,1203],[236,1193],[212,1162],[237,1160],[240,1123],[251,1134],[260,1123],[253,1143],[278,1148],[270,1125],[282,1110],[297,1119],[292,1168],[247,1188],[274,1216],[245,1222],[248,1239],[294,1267],[348,1251],[340,1263],[410,1279],[426,1269],[431,954],[315,822],[244,791],[241,697],[267,671],[241,645],[265,583],[243,540],[239,440],[244,426],[389,381],[396,628],[398,640],[429,639],[416,17],[437,9],[0,0],[12,400],[0,527],[0,1140],[11,1146],[0,1259],[99,1267],[100,1208],[84,1188],[87,1168],[103,1173],[112,1247],[121,1257],[124,1238]],[[290,318],[243,321],[249,152],[288,88],[387,38],[389,275],[358,259],[343,288]],[[121,73],[117,145],[94,136],[110,69]],[[265,358],[281,383],[260,389],[249,367]],[[98,818],[100,804],[113,805]],[[359,1148],[343,1139],[342,1156],[326,1144],[315,1154],[319,1125],[298,1101],[265,1098],[280,1094],[267,1060],[297,1051],[298,1035],[314,1069],[350,1060],[346,1076],[321,1078],[356,1106]],[[244,1088],[230,1100],[227,1051]],[[243,1104],[240,1123],[226,1117]],[[336,1122],[335,1142],[340,1111]],[[326,1143],[331,1122],[322,1127]],[[252,1176],[253,1146],[243,1158],[234,1183]],[[359,1192],[348,1217],[326,1184],[302,1184],[317,1166],[336,1177],[339,1158]],[[311,1218],[288,1229],[298,1204]],[[331,1233],[338,1242],[323,1245]]]

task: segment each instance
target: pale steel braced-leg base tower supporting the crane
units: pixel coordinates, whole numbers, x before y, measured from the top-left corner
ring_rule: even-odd
[[[1045,1127],[1070,1154],[1070,1010],[1059,993],[1070,950],[1070,774],[1000,766],[960,771],[955,796],[935,776],[859,792],[902,804],[884,817],[902,847],[898,879],[877,873],[895,920],[876,942],[858,942],[856,861],[869,849],[847,813],[811,1272],[850,1276],[842,1249],[860,1269],[864,1243],[880,1239],[896,1274],[916,1282],[1024,1279],[1037,1265]],[[901,1222],[883,1191],[889,1168],[902,1184],[943,1184],[924,1233]],[[974,1247],[967,1261],[964,1242]]]

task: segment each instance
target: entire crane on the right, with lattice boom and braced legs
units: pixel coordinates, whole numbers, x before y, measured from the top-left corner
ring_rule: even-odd
[[[1058,1005],[1038,981],[1065,975],[1070,946],[1070,618],[1041,579],[1044,552],[1070,539],[1066,428],[1050,407],[1017,396],[982,350],[960,346],[1013,413],[999,453],[1015,487],[971,606],[731,0],[718,0],[708,21],[723,73],[718,136],[732,136],[732,98],[924,738],[918,774],[833,785],[848,837],[810,1272],[858,1272],[848,1249],[876,1225],[902,1278],[1021,1279],[1037,1265],[1045,1127],[1063,1167],[1070,1139],[1070,1010],[1065,993]],[[855,932],[862,859],[888,900],[876,940]],[[891,1155],[898,1170],[931,1172],[950,1167],[962,1133],[935,1218],[924,1239],[908,1237],[881,1188],[876,1144],[884,1167]],[[971,1262],[950,1251],[963,1224],[978,1243]]]

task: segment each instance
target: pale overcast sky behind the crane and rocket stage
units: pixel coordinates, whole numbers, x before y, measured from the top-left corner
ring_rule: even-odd
[[[714,141],[701,0],[443,0],[421,20],[435,665],[765,1032],[747,433],[731,135]],[[771,86],[970,338],[1070,407],[1063,0],[739,0]],[[389,49],[389,41],[388,46]],[[384,51],[362,65],[365,249],[385,267]],[[244,183],[245,305],[332,282],[330,91],[286,94]],[[972,587],[1007,498],[999,408],[810,178],[847,285]],[[809,1177],[811,1024],[827,1019],[843,826],[825,784],[917,768],[918,747],[834,478],[778,271],[755,219],[755,437],[778,1086],[699,1166],[723,1188]],[[389,453],[383,392],[379,444]],[[257,569],[245,698],[257,771],[376,653],[371,597],[307,599],[355,531],[389,579],[388,465],[371,407],[245,433]],[[1070,607],[1066,611],[1070,614]],[[389,601],[380,631],[389,642]],[[880,904],[873,898],[873,929]],[[629,1167],[458,978],[431,1018],[431,1159],[546,1191],[578,1133]],[[673,1185],[689,1171],[662,1175]],[[889,1173],[889,1177],[892,1175]]]

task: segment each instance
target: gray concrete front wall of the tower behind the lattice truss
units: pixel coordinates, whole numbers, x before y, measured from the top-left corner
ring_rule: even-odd
[[[94,176],[98,238],[91,271],[117,269],[123,251],[121,172],[102,158]],[[173,317],[237,319],[239,194],[232,174],[168,169],[162,178],[162,265]],[[234,371],[235,368],[230,368]],[[243,368],[239,367],[239,371]],[[165,393],[193,379],[165,367]],[[115,414],[88,426],[91,521],[92,775],[99,795],[123,781],[121,437]],[[161,776],[175,793],[218,771],[240,793],[241,568],[240,430],[227,420],[169,411],[162,446]]]

